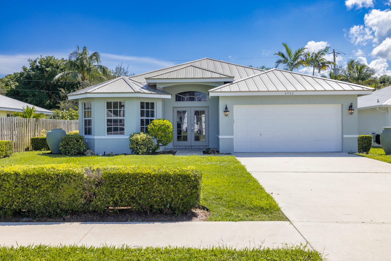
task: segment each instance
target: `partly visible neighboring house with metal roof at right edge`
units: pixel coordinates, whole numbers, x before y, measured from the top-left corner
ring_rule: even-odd
[[[358,97],[357,102],[359,135],[380,134],[391,126],[391,86]]]

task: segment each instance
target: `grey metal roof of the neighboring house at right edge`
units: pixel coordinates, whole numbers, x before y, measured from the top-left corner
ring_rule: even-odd
[[[358,108],[382,107],[391,105],[391,86],[381,88],[372,94],[357,98]]]

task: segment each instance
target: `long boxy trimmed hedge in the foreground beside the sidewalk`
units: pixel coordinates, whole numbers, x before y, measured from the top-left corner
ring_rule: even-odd
[[[62,165],[0,167],[0,216],[104,211],[181,214],[198,204],[201,173],[194,168]]]

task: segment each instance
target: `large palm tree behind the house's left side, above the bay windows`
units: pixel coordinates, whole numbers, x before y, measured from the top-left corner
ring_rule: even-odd
[[[87,79],[106,80],[105,76],[110,74],[109,68],[100,65],[101,59],[99,52],[93,52],[91,55],[87,47],[80,50],[76,45],[76,50],[68,55],[68,60],[64,60],[64,66],[67,69],[54,77],[54,80],[61,81],[81,81],[81,86],[85,88]]]

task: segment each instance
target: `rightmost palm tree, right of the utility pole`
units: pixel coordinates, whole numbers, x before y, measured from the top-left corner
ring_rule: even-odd
[[[348,61],[348,64],[341,69],[340,80],[359,85],[371,86],[377,82],[375,78],[375,70],[368,65],[359,63],[353,59]]]

